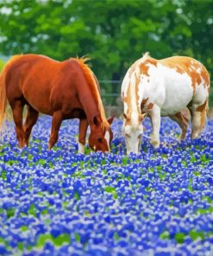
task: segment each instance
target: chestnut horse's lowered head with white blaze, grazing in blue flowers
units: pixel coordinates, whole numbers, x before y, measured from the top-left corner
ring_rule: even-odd
[[[89,136],[89,144],[92,150],[110,151],[110,142],[113,138],[113,133],[110,129],[112,121],[113,118],[108,119],[107,122],[101,122],[97,117],[94,118]]]

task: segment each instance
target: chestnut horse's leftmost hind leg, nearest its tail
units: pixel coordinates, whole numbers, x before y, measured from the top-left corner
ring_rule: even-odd
[[[24,131],[22,126],[22,112],[24,104],[22,103],[22,100],[16,100],[10,102],[10,106],[12,108],[13,119],[16,125],[16,137],[18,140],[18,146],[20,149],[22,149],[22,147],[24,147]]]

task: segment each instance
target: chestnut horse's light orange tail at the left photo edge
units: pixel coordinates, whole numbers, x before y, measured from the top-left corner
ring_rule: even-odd
[[[7,106],[7,95],[6,95],[6,75],[12,62],[19,59],[22,55],[14,55],[9,61],[3,66],[0,73],[0,131],[3,126],[3,120],[5,118],[6,106]]]

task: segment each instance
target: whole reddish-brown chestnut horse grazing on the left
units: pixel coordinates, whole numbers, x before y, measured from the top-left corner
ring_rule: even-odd
[[[48,148],[59,138],[62,120],[79,118],[78,152],[84,153],[88,125],[89,144],[93,150],[109,151],[113,137],[99,93],[96,76],[85,64],[87,59],[54,61],[47,56],[13,56],[0,74],[0,126],[7,100],[13,112],[19,147],[28,146],[28,138],[39,112],[53,116]],[[22,125],[23,107],[28,106]]]

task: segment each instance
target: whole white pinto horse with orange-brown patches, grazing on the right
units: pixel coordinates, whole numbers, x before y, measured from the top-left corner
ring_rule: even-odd
[[[155,148],[160,146],[160,116],[176,121],[182,130],[180,138],[185,139],[185,107],[191,112],[191,138],[198,138],[205,124],[209,93],[210,76],[199,61],[184,56],[156,60],[144,54],[129,67],[122,81],[122,130],[127,153],[139,153],[141,121],[146,115],[152,121],[151,144]]]

